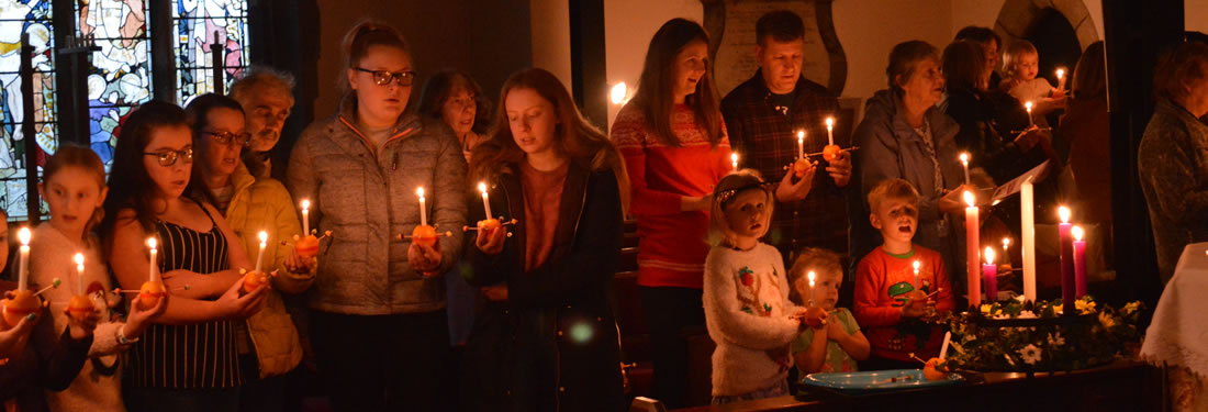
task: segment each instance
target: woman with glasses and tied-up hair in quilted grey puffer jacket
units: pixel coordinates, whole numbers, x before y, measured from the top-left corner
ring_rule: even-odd
[[[310,201],[313,227],[332,231],[308,295],[319,371],[336,411],[436,410],[448,352],[440,274],[461,251],[465,157],[448,126],[405,112],[416,72],[397,30],[362,22],[343,52],[339,111],[302,133],[286,179]],[[411,240],[420,205],[448,237]]]

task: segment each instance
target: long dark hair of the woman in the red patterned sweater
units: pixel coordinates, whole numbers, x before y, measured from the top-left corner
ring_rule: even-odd
[[[655,139],[664,145],[679,147],[680,141],[672,130],[672,111],[675,99],[675,58],[689,43],[703,41],[709,43],[709,34],[696,22],[673,18],[663,23],[646,48],[646,60],[641,65],[641,77],[633,101],[641,108],[646,123],[655,132]],[[714,147],[721,141],[721,99],[713,85],[713,70],[705,62],[704,76],[696,82],[696,92],[684,100],[696,114],[696,122],[704,128],[709,144]]]

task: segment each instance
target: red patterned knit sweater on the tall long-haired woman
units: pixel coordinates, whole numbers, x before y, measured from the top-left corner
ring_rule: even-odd
[[[719,114],[720,116],[720,114]],[[621,108],[611,138],[625,156],[632,187],[631,213],[638,219],[638,284],[701,289],[707,211],[680,211],[681,197],[703,196],[731,170],[730,140],[716,147],[697,124],[692,109],[676,105],[672,130],[680,147],[658,141],[635,104]]]

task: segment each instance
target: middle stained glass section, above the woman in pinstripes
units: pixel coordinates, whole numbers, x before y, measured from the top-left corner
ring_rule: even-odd
[[[0,0],[4,1],[4,0]],[[88,117],[93,151],[108,167],[114,129],[134,106],[151,100],[151,41],[144,0],[77,0],[76,34],[93,36]]]

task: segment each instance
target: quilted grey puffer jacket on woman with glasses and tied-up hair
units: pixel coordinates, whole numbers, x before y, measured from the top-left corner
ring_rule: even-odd
[[[466,219],[461,146],[445,123],[405,114],[378,152],[356,129],[355,105],[345,97],[339,114],[307,127],[290,155],[290,193],[310,199],[312,227],[332,232],[320,244],[309,306],[358,315],[442,311],[445,279],[412,269],[411,240],[399,234],[419,225],[423,186],[429,224],[453,232],[440,239],[439,272],[457,262]]]

